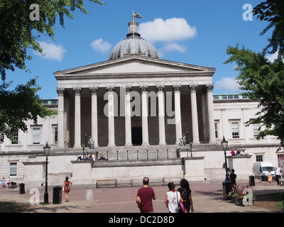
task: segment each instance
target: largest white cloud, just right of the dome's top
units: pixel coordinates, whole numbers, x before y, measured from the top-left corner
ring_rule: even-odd
[[[195,37],[197,30],[185,18],[169,18],[165,21],[155,18],[154,21],[141,23],[139,33],[151,43],[175,42]]]

